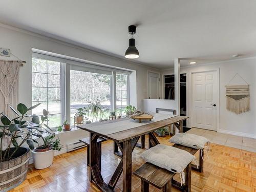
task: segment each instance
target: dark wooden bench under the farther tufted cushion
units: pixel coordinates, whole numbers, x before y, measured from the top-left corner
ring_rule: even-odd
[[[199,151],[196,148],[191,148],[191,147],[183,146],[183,145],[180,145],[180,144],[174,144],[173,147],[179,148],[180,150],[187,151],[191,155],[195,155]],[[202,151],[202,152],[199,153],[199,166],[198,166],[198,168],[197,168],[196,165],[193,165],[193,164],[191,165],[191,168],[193,170],[196,170],[199,173],[203,173],[204,172],[203,158],[204,158],[204,152]]]

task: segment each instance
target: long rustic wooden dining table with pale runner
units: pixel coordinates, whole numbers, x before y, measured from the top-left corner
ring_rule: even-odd
[[[94,183],[101,191],[114,191],[114,188],[123,173],[123,190],[132,190],[132,152],[141,136],[148,134],[148,145],[153,147],[159,144],[154,131],[161,127],[174,124],[179,132],[182,131],[182,122],[187,116],[170,114],[154,114],[151,121],[139,121],[121,118],[111,121],[78,125],[81,130],[90,132],[90,182]],[[97,145],[97,139],[104,137],[113,140],[120,149],[121,161],[119,162],[109,183],[105,183],[98,165],[101,158],[101,148]],[[100,152],[100,153],[99,153]]]

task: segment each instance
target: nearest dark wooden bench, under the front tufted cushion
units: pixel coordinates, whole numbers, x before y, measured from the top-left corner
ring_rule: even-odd
[[[167,169],[160,168],[151,163],[144,163],[134,173],[141,179],[141,192],[149,191],[149,184],[162,189],[164,192],[171,192],[172,186],[180,189],[181,191],[191,191],[191,163],[185,168],[185,185],[181,184],[173,179],[176,173],[170,172]]]

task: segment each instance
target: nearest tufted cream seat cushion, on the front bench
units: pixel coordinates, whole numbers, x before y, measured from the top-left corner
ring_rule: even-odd
[[[190,153],[172,146],[158,144],[144,151],[140,157],[146,162],[165,168],[174,173],[181,173],[194,160]]]

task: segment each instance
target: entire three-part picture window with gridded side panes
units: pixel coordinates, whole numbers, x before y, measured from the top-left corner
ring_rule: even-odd
[[[88,119],[84,118],[83,123],[109,119],[114,111],[118,116],[125,115],[128,88],[126,71],[32,53],[32,104],[41,103],[32,113],[42,115],[43,109],[49,111],[50,127],[65,120],[74,125],[74,120],[78,122],[74,117],[79,108],[87,110]]]

